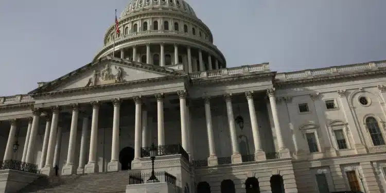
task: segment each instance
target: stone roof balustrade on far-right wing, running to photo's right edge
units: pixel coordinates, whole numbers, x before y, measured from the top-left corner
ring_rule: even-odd
[[[279,80],[291,80],[291,79],[302,79],[302,78],[313,78],[319,76],[335,75],[335,74],[346,74],[370,71],[373,69],[386,67],[386,61],[370,62],[362,64],[350,64],[344,66],[335,66],[319,69],[309,69],[305,71],[297,71],[291,73],[278,73],[276,79]]]

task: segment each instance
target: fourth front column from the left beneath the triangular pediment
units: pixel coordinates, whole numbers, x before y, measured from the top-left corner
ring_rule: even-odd
[[[98,145],[99,101],[92,101],[91,105],[93,106],[93,118],[91,120],[89,163],[84,166],[84,173],[96,173],[99,171],[96,160],[96,150]]]

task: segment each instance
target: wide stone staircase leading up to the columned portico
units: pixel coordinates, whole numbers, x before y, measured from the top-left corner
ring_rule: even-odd
[[[42,177],[18,193],[125,193],[129,174],[138,172],[141,170]]]

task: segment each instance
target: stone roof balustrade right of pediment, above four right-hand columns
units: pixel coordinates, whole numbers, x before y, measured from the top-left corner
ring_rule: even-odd
[[[204,77],[215,77],[222,75],[234,75],[234,74],[244,74],[251,72],[269,72],[269,64],[255,64],[248,66],[239,66],[239,67],[231,67],[231,68],[222,68],[222,69],[214,69],[212,71],[204,71],[204,72],[194,72],[189,73],[191,79],[196,78],[204,78]]]

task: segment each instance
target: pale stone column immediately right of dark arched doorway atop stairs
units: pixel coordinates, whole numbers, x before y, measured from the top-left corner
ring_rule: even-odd
[[[135,133],[134,133],[134,160],[131,162],[131,168],[141,168],[141,140],[142,140],[142,126],[141,126],[141,115],[142,115],[142,100],[141,96],[133,97],[135,102]]]

